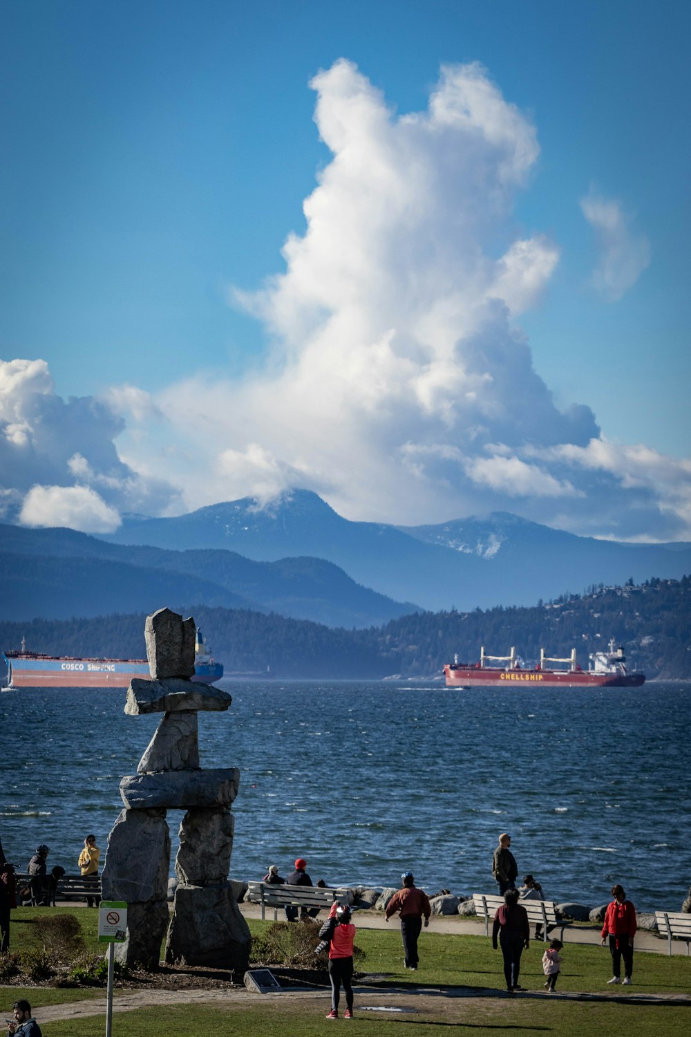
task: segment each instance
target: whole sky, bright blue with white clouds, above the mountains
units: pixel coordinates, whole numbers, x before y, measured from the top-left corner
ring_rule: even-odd
[[[0,11],[7,518],[691,538],[688,4]]]

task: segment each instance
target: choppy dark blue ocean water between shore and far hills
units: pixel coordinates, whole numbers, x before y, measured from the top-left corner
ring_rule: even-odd
[[[230,682],[199,714],[201,765],[237,766],[232,878],[295,857],[327,885],[494,892],[512,835],[519,876],[589,906],[622,882],[639,910],[679,910],[689,873],[691,684],[473,689],[438,683]],[[160,716],[124,691],[0,695],[0,839],[22,869],[39,842],[76,871],[84,836],[105,850]],[[173,860],[181,811],[169,812]]]

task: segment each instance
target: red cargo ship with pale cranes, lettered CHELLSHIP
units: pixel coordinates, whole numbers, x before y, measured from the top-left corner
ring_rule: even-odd
[[[503,663],[503,666],[492,666]],[[545,664],[568,663],[569,669],[554,670]],[[489,664],[489,665],[488,665]],[[576,663],[576,649],[568,658],[548,658],[545,649],[540,649],[540,663],[526,667],[516,656],[515,649],[509,655],[486,655],[480,649],[479,663],[459,663],[458,655],[443,668],[448,688],[474,688],[513,685],[542,688],[640,688],[645,680],[644,673],[629,673],[624,649],[620,645],[614,650],[614,641],[609,642],[609,651],[596,651],[588,655],[588,669],[582,670]]]

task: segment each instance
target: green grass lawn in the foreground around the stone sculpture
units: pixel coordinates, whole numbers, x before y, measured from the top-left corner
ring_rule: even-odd
[[[96,940],[96,913],[86,908],[42,908],[55,914],[76,913],[91,950],[104,951]],[[12,913],[12,949],[21,950],[37,945],[35,908]],[[356,916],[355,916],[356,922]],[[255,936],[265,934],[270,922],[250,920]],[[300,929],[303,927],[300,926]],[[308,945],[310,941],[307,942]],[[316,944],[316,940],[315,940]],[[420,940],[421,964],[416,973],[403,968],[401,937],[398,927],[392,930],[358,929],[356,946],[363,955],[356,968],[366,974],[363,980],[368,987],[376,986],[378,1003],[405,1007],[406,1013],[387,1015],[384,1012],[363,1010],[371,999],[362,997],[353,1026],[367,1028],[370,1037],[392,1035],[394,1029],[413,1027],[414,1037],[436,1035],[439,1027],[456,1026],[488,1034],[518,1033],[529,1035],[554,1034],[555,1037],[582,1037],[588,1034],[626,1033],[627,1037],[688,1037],[691,1032],[691,1001],[688,1006],[668,1004],[639,1004],[626,1000],[580,1001],[569,993],[611,994],[606,981],[611,975],[609,953],[605,948],[591,945],[567,944],[564,948],[563,972],[557,993],[544,996],[541,958],[544,945],[534,943],[522,959],[521,984],[539,997],[519,994],[509,999],[503,993],[501,953],[493,951],[490,941],[483,935],[452,935],[423,931]],[[309,951],[308,951],[309,954]],[[309,958],[305,963],[311,963]],[[394,992],[396,988],[397,992]],[[387,993],[387,991],[391,991]],[[421,992],[422,991],[422,992]],[[426,996],[428,991],[431,996]],[[492,992],[490,992],[492,991]],[[496,992],[494,992],[496,991]],[[482,997],[473,997],[473,993]],[[115,997],[118,998],[116,990]],[[691,957],[638,952],[634,957],[634,985],[616,988],[621,999],[640,994],[691,993]],[[462,994],[462,996],[457,996]],[[564,997],[564,996],[567,997]],[[36,1009],[40,1021],[40,1008],[49,1005],[100,999],[105,1011],[103,989],[59,989],[39,987],[27,990],[18,986],[1,986],[3,1015],[18,998],[26,997]],[[227,1002],[181,1004],[166,1008],[148,1008],[115,1013],[114,1037],[157,1037],[183,1028],[204,1034],[204,1037],[227,1037],[229,1034],[262,1037],[311,1037],[323,1034],[330,1024],[324,1019],[329,1008],[326,990],[310,1000],[266,994],[260,1003],[243,1004],[232,996]],[[343,1025],[339,1020],[339,1025]],[[45,1037],[96,1037],[105,1032],[105,1018],[81,1017],[64,1021],[46,1022]],[[404,1031],[409,1033],[409,1031]],[[413,1037],[410,1034],[410,1037]]]

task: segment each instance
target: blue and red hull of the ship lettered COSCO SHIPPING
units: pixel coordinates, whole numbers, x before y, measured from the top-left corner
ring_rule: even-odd
[[[134,677],[149,680],[144,660],[31,658],[5,656],[9,666],[7,688],[127,688]],[[202,663],[192,678],[212,684],[223,677],[221,663]]]

